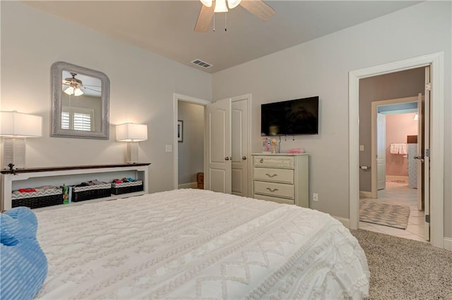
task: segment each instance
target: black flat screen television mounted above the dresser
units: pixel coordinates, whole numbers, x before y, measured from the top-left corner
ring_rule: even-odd
[[[318,134],[319,96],[261,105],[261,136]]]

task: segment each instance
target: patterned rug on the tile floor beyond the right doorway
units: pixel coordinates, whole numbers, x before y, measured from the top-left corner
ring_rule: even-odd
[[[407,229],[410,207],[383,203],[379,200],[359,200],[359,220],[400,229]]]

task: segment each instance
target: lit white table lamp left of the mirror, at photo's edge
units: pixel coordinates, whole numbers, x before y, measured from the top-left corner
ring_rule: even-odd
[[[25,138],[42,137],[42,117],[17,111],[0,111],[0,136],[4,137],[3,168],[26,168]]]

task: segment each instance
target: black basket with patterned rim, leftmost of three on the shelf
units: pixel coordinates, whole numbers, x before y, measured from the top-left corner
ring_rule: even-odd
[[[63,204],[63,192],[59,188],[20,194],[13,192],[11,195],[11,207],[40,208],[59,204]]]

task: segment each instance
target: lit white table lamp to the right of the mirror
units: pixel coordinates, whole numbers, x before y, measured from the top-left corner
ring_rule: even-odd
[[[138,142],[148,139],[148,125],[124,123],[116,126],[116,139],[127,142],[126,163],[138,163]]]

